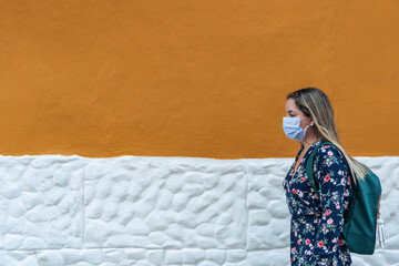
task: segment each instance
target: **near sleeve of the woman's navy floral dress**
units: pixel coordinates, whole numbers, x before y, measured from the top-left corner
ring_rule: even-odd
[[[348,166],[338,149],[324,145],[315,154],[314,173],[319,185],[321,217],[316,229],[316,265],[330,265],[344,225]]]

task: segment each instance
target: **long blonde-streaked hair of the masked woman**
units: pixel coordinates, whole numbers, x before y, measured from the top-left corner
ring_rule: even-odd
[[[287,95],[294,99],[298,109],[315,122],[316,135],[336,145],[344,154],[350,168],[351,176],[356,180],[365,178],[367,168],[365,165],[351,157],[340,145],[337,127],[334,120],[334,111],[328,96],[316,88],[300,89]]]

